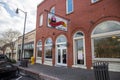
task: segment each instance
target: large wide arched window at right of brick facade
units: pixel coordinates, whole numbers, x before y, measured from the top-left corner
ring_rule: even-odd
[[[105,21],[92,32],[93,58],[120,59],[120,23]]]

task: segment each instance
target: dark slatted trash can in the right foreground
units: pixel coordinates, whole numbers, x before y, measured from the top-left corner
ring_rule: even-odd
[[[108,62],[95,62],[93,64],[95,80],[110,80]]]

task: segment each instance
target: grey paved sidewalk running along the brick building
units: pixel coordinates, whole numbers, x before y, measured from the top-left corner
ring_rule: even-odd
[[[20,67],[45,79],[43,80],[95,80],[93,70],[81,68],[55,67],[41,64]],[[110,80],[120,80],[120,72],[109,72]],[[49,79],[48,79],[49,78]]]

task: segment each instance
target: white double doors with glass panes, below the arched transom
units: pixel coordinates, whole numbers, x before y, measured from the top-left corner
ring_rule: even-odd
[[[67,48],[66,47],[59,47],[57,48],[57,65],[64,65],[66,66],[67,63]]]

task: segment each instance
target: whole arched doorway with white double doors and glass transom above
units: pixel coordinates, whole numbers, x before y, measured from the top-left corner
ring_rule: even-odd
[[[56,40],[56,65],[67,66],[67,39],[64,35]]]

